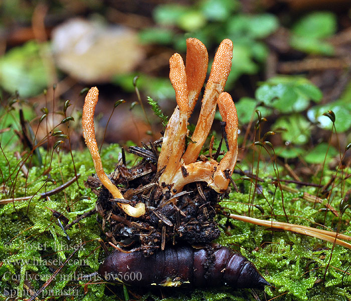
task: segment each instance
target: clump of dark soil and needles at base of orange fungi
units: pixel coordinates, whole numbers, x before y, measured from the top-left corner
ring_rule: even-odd
[[[218,238],[220,231],[215,221],[221,194],[209,188],[206,183],[196,182],[184,187],[180,193],[171,193],[172,187],[162,193],[157,182],[157,143],[150,146],[132,146],[128,152],[143,159],[132,168],[127,168],[121,156],[115,170],[109,175],[111,181],[123,194],[123,199],[113,199],[109,191],[101,187],[96,176],[89,177],[86,186],[98,195],[96,209],[101,228],[108,241],[118,244],[124,250],[142,250],[151,255],[166,244],[187,242],[208,244]],[[122,152],[123,153],[123,152]],[[160,171],[162,172],[162,171]],[[135,206],[144,203],[146,213],[133,218],[126,215],[117,203]]]

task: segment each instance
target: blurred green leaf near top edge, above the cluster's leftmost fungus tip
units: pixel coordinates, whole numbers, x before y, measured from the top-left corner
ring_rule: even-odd
[[[176,25],[186,11],[187,7],[180,4],[158,5],[153,11],[153,19],[160,25]]]

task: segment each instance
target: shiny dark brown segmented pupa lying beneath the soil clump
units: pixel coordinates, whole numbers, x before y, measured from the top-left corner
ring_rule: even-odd
[[[194,249],[191,246],[169,247],[144,257],[143,252],[115,250],[99,267],[99,274],[110,282],[147,286],[194,287],[229,285],[233,288],[263,288],[269,283],[254,264],[229,248],[218,246]]]

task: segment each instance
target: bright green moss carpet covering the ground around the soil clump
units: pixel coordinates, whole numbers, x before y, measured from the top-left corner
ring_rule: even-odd
[[[43,158],[46,150],[40,149]],[[116,144],[111,144],[103,148],[101,157],[106,172],[112,172],[118,162],[120,148]],[[96,216],[82,219],[79,224],[67,230],[70,238],[57,224],[57,219],[53,217],[51,211],[54,209],[63,213],[70,221],[76,219],[77,215],[91,210],[95,206],[96,196],[84,187],[84,180],[94,172],[90,154],[87,150],[74,152],[74,160],[77,172],[81,174],[79,187],[73,183],[64,191],[55,194],[48,200],[39,198],[39,194],[52,190],[74,176],[72,159],[70,154],[60,152],[54,153],[51,163],[50,177],[55,179],[57,185],[46,182],[48,175],[43,171],[46,166],[36,166],[30,168],[29,177],[26,180],[17,166],[17,159],[13,155],[13,150],[5,152],[10,163],[10,169],[4,156],[0,156],[0,168],[4,179],[12,174],[11,180],[15,184],[14,197],[24,197],[35,195],[31,200],[15,201],[6,205],[0,205],[0,258],[4,262],[0,266],[0,295],[7,288],[23,289],[28,285],[25,281],[26,275],[36,279],[31,281],[32,288],[38,290],[43,283],[52,275],[73,252],[71,249],[62,249],[62,246],[80,244],[85,242],[84,247],[74,254],[73,262],[66,264],[55,280],[48,286],[50,289],[76,289],[75,300],[113,300],[110,288],[105,289],[105,284],[100,280],[79,279],[77,275],[87,275],[95,272],[102,262],[105,254],[99,248],[98,239],[102,236],[101,229],[96,222]],[[135,164],[135,158],[129,154],[127,162]],[[242,166],[244,168],[244,165]],[[270,163],[262,164],[260,178],[265,182],[260,182],[262,194],[256,192],[253,203],[261,206],[264,213],[255,207],[250,207],[250,215],[256,218],[273,219],[286,221],[281,201],[281,192],[276,190],[271,183],[274,177],[274,170]],[[16,176],[17,171],[19,171]],[[344,171],[347,172],[346,170]],[[348,171],[349,172],[349,171]],[[324,171],[322,184],[333,176],[335,172]],[[0,178],[3,179],[3,178]],[[241,215],[248,215],[249,204],[252,202],[254,185],[250,181],[243,181],[239,177],[235,179],[237,186],[243,193],[232,192],[228,198],[223,199],[221,205],[226,211]],[[315,181],[319,181],[318,175]],[[0,181],[1,182],[1,181]],[[4,183],[1,183],[3,185]],[[351,186],[350,179],[343,181],[343,191],[347,191]],[[7,191],[11,191],[11,181],[5,182]],[[296,188],[296,185],[290,185]],[[251,192],[250,192],[251,190]],[[316,194],[316,188],[299,188],[297,193],[283,192],[284,207],[289,222],[315,227],[315,223],[322,223],[325,211],[320,211],[322,206],[303,200],[303,192]],[[82,198],[82,196],[86,196]],[[333,190],[332,206],[338,208],[341,196],[341,186],[337,185]],[[90,199],[89,199],[90,198]],[[274,203],[273,203],[274,198]],[[325,200],[327,202],[327,200]],[[70,208],[67,210],[67,208]],[[347,300],[351,297],[347,287],[351,284],[349,275],[349,262],[351,262],[351,252],[349,249],[336,245],[332,250],[332,243],[321,241],[317,238],[303,236],[292,232],[277,232],[264,227],[241,221],[218,216],[218,221],[224,225],[226,233],[218,239],[222,245],[229,246],[240,252],[253,261],[258,270],[272,284],[264,291],[256,291],[261,299],[276,297],[276,300]],[[346,234],[351,230],[348,225],[349,214],[346,211],[339,224],[340,231]],[[331,212],[327,212],[325,225],[335,230],[338,226],[338,218]],[[228,235],[229,234],[229,235]],[[42,246],[42,248],[40,248]],[[43,248],[43,246],[45,246]],[[332,250],[332,256],[329,258]],[[40,263],[47,260],[45,264]],[[50,260],[50,262],[49,262]],[[85,261],[84,261],[85,260]],[[82,264],[83,263],[83,264]],[[329,263],[329,264],[328,264]],[[328,268],[327,268],[328,267]],[[325,281],[324,272],[325,273]],[[344,272],[346,271],[346,272]],[[21,277],[20,277],[20,276]],[[20,278],[19,280],[16,279]],[[123,289],[121,285],[115,285],[114,293],[123,299]],[[159,291],[128,287],[131,292],[142,295],[143,300],[159,300]],[[192,290],[189,287],[166,290],[165,300],[255,300],[250,290],[234,290],[230,287],[206,288],[204,290]],[[279,296],[281,295],[281,296]],[[62,297],[57,297],[62,299]]]

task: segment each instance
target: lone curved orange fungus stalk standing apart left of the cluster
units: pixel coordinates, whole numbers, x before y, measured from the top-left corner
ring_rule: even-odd
[[[87,96],[85,97],[85,102],[83,106],[83,115],[82,115],[82,128],[83,136],[85,138],[85,143],[87,144],[91,157],[94,162],[94,167],[97,176],[99,177],[103,186],[112,194],[115,199],[124,199],[121,192],[118,188],[112,184],[111,180],[105,174],[101,158],[99,155],[99,148],[95,139],[95,127],[94,127],[94,112],[95,106],[99,99],[99,90],[96,87],[93,87],[89,90]],[[121,209],[129,216],[140,217],[145,214],[145,205],[143,203],[137,204],[135,207],[130,206],[129,204],[118,203]]]

